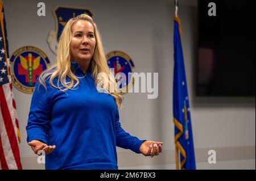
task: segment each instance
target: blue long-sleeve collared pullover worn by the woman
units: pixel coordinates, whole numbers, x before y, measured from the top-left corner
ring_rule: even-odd
[[[36,83],[28,115],[27,142],[39,140],[56,149],[46,155],[46,169],[118,169],[116,146],[140,153],[139,140],[125,132],[112,95],[98,92],[91,66],[82,71],[71,62],[80,77],[75,90],[47,90]],[[56,83],[56,79],[53,83]]]

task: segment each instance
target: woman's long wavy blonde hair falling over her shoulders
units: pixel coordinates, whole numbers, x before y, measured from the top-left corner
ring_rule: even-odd
[[[79,85],[79,78],[77,78],[71,70],[71,50],[69,47],[72,37],[72,26],[75,22],[79,20],[86,20],[92,23],[94,27],[96,47],[92,59],[90,60],[90,64],[92,64],[92,77],[95,84],[101,85],[100,87],[97,86],[97,90],[100,92],[100,90],[104,89],[107,94],[110,94],[114,97],[117,107],[122,108],[123,97],[119,93],[114,75],[110,73],[110,69],[106,61],[104,48],[101,41],[100,32],[98,32],[97,26],[93,22],[93,19],[86,14],[81,14],[79,16],[76,16],[75,18],[68,20],[59,39],[56,64],[52,65],[51,68],[43,71],[43,73],[39,77],[40,84],[46,87],[46,79],[49,79],[49,84],[52,87],[55,87],[61,91],[74,89],[77,85]],[[106,76],[101,76],[99,79],[97,79],[97,75],[100,73],[105,73]],[[53,83],[53,79],[56,77],[57,86]],[[67,78],[69,78],[68,82]]]

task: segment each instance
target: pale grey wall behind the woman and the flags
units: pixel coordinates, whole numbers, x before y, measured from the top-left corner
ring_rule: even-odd
[[[126,94],[121,123],[134,136],[163,141],[163,154],[151,159],[118,148],[119,169],[175,169],[172,123],[173,1],[44,0],[45,17],[36,15],[38,2],[5,1],[10,55],[19,47],[34,45],[42,49],[51,62],[55,62],[55,56],[46,43],[48,32],[55,30],[51,11],[57,5],[92,10],[106,53],[122,50],[133,58],[138,73],[159,73],[158,99],[147,99],[145,93]],[[195,97],[196,1],[179,2],[197,168],[255,169],[255,99]],[[14,94],[22,136],[20,155],[23,169],[43,169],[43,165],[36,163],[36,157],[26,143],[25,127],[31,95],[15,88]],[[217,151],[216,165],[207,162],[210,149]]]

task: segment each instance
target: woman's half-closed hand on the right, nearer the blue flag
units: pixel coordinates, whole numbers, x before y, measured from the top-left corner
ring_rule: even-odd
[[[151,156],[151,158],[152,158],[155,155],[159,155],[159,153],[162,152],[162,145],[163,145],[163,142],[144,141],[141,144],[139,151],[141,151],[141,153],[144,156]]]

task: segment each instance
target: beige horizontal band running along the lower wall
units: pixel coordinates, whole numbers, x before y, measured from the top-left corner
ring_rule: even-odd
[[[243,159],[255,159],[255,146],[237,146],[226,148],[200,148],[196,149],[196,162],[208,162],[208,151],[216,151],[216,162],[232,161]],[[37,163],[38,157],[22,157],[23,169],[44,169],[44,164]],[[144,157],[132,151],[118,152],[118,166],[148,166],[148,165],[168,165],[175,164],[175,151],[163,150],[158,157]]]

